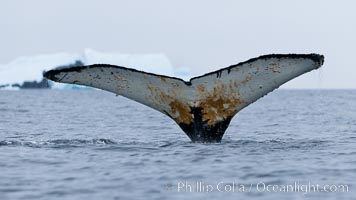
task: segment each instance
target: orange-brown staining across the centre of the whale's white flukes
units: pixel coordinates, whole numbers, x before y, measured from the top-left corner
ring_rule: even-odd
[[[179,90],[175,90],[174,87],[167,89],[168,92],[150,85],[147,88],[157,102],[169,105],[169,109],[165,111],[178,124],[194,123],[197,119],[192,114],[192,108],[199,108],[201,109],[201,123],[206,122],[207,125],[213,126],[219,121],[232,118],[237,113],[236,108],[243,104],[238,92],[238,85],[237,81],[230,81],[228,85],[217,81],[215,86],[208,90],[206,86],[200,84],[196,87],[197,93],[195,93],[199,97],[198,100],[184,103],[177,100]]]

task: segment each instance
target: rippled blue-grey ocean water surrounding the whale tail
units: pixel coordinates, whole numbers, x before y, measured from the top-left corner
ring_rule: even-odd
[[[97,90],[0,91],[0,199],[355,199],[356,90],[277,90],[194,144]]]

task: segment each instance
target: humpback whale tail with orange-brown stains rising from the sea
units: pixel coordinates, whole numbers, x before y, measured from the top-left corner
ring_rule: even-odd
[[[106,64],[54,69],[44,76],[122,95],[168,115],[193,142],[220,142],[241,109],[323,62],[318,54],[265,55],[188,82]]]

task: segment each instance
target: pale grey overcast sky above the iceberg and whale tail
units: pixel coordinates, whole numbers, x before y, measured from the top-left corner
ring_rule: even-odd
[[[1,0],[0,63],[18,56],[164,53],[194,74],[270,53],[320,53],[289,88],[356,88],[356,1]]]

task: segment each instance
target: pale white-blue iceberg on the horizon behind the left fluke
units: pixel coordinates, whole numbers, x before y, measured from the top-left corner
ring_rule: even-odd
[[[164,54],[122,54],[103,53],[92,49],[85,49],[82,54],[56,53],[35,56],[23,56],[8,64],[0,64],[0,89],[17,89],[14,84],[23,84],[25,81],[42,80],[42,73],[59,66],[71,65],[80,61],[84,65],[112,64],[134,68],[141,71],[175,76],[189,80],[188,68],[174,69]],[[51,88],[77,89],[75,85],[51,82]]]

